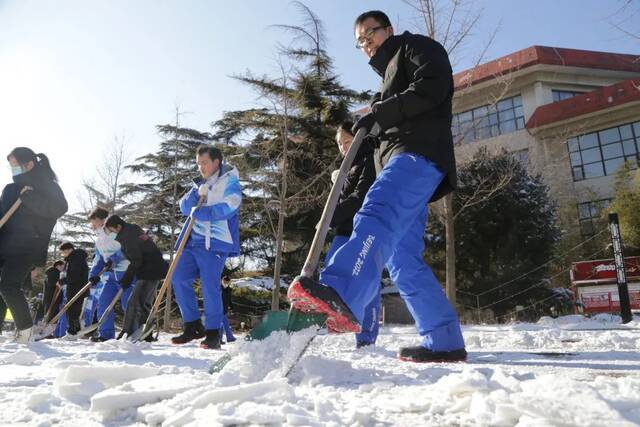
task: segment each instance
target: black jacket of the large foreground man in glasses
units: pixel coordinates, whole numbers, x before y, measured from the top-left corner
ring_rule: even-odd
[[[394,154],[419,154],[446,174],[430,201],[454,191],[453,74],[446,50],[433,39],[404,32],[389,37],[369,65],[384,79],[371,100],[371,111],[383,130],[376,168],[384,167]]]

